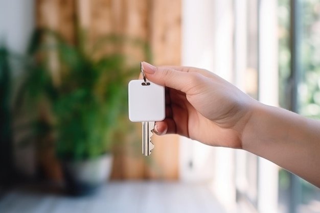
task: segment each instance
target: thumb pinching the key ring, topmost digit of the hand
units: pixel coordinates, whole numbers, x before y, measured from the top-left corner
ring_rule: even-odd
[[[198,73],[181,72],[169,67],[155,67],[147,62],[143,62],[142,67],[149,81],[185,93],[195,84],[200,83]]]

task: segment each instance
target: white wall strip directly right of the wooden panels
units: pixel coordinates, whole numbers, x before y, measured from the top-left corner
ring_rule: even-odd
[[[213,3],[182,1],[182,65],[213,70]],[[180,179],[208,181],[213,178],[214,149],[180,138]]]

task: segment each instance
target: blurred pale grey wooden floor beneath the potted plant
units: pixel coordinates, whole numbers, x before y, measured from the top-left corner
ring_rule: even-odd
[[[109,182],[96,194],[73,198],[57,192],[16,189],[0,200],[6,213],[170,213],[225,211],[206,184],[180,182]]]

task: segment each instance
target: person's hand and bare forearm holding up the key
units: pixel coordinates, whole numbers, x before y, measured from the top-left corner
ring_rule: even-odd
[[[207,70],[146,62],[143,68],[167,91],[166,119],[156,122],[157,134],[241,148],[320,186],[319,121],[264,105]]]

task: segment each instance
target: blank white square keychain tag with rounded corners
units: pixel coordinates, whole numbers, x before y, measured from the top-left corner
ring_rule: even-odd
[[[165,87],[144,80],[128,85],[129,120],[132,122],[163,121],[166,117]]]

